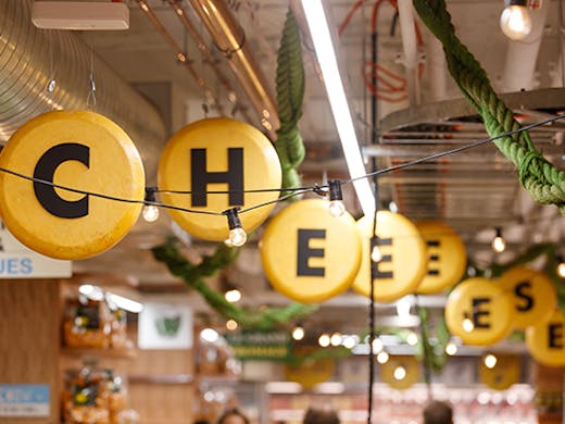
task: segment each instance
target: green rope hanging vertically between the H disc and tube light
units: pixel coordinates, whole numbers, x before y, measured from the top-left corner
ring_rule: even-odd
[[[282,169],[282,187],[300,187],[297,167],[305,155],[304,144],[298,129],[304,98],[304,66],[300,28],[289,9],[282,29],[277,57],[277,109],[280,128],[275,149]],[[281,196],[289,192],[282,192]]]

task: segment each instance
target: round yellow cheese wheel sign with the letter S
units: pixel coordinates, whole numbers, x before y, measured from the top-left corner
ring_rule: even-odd
[[[555,287],[549,277],[526,266],[515,266],[498,280],[514,301],[514,327],[524,329],[547,322],[557,301]]]

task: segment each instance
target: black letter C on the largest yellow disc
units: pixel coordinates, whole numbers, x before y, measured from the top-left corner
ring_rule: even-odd
[[[53,146],[37,161],[34,178],[53,183],[53,175],[63,162],[78,161],[89,167],[90,149],[76,142]],[[79,200],[62,199],[49,184],[34,182],[34,191],[39,203],[51,214],[60,217],[81,217],[88,215],[88,196]]]

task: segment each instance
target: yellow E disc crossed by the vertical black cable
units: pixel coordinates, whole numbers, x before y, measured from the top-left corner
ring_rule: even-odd
[[[353,289],[371,296],[369,240],[373,233],[373,217],[363,216],[357,221],[363,240],[361,267],[353,282]],[[376,263],[375,300],[391,302],[413,294],[426,273],[426,245],[416,226],[399,213],[380,211],[377,213],[377,229],[381,261]]]

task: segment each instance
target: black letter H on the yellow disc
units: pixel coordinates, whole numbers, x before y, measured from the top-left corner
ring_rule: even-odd
[[[227,149],[228,167],[225,172],[206,171],[206,149],[190,149],[190,171],[192,183],[192,207],[206,207],[209,184],[227,183],[229,205],[243,204],[243,149]]]

